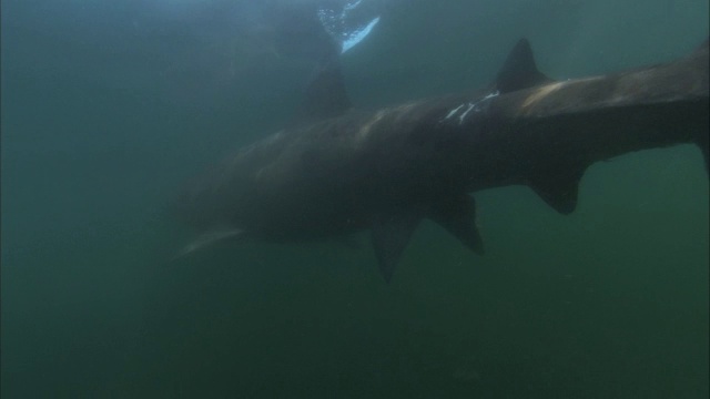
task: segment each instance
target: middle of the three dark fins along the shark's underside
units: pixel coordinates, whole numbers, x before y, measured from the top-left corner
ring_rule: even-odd
[[[484,242],[476,226],[476,202],[467,194],[456,195],[432,207],[429,217],[478,255]]]

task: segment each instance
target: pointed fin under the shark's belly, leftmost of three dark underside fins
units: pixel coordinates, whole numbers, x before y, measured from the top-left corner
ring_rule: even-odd
[[[385,282],[392,279],[397,262],[420,219],[419,214],[413,212],[379,219],[373,225],[373,248]]]

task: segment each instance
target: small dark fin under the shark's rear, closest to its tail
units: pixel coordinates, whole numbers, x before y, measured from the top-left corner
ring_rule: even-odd
[[[584,167],[572,167],[536,174],[528,178],[528,186],[555,211],[569,215],[577,207],[579,181],[584,173]]]

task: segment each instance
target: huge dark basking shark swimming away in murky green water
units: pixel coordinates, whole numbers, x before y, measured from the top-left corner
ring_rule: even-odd
[[[389,282],[423,218],[483,254],[470,195],[479,190],[527,185],[569,214],[595,162],[694,143],[707,167],[708,74],[706,41],[674,62],[556,81],[521,39],[483,90],[366,112],[351,105],[334,58],[290,129],[241,149],[184,191],[179,209],[203,234],[181,254],[220,241],[369,229]]]

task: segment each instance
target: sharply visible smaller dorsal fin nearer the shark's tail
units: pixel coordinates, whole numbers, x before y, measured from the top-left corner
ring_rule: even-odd
[[[530,42],[520,39],[513,48],[496,78],[496,89],[503,93],[529,89],[551,82],[535,64]]]

